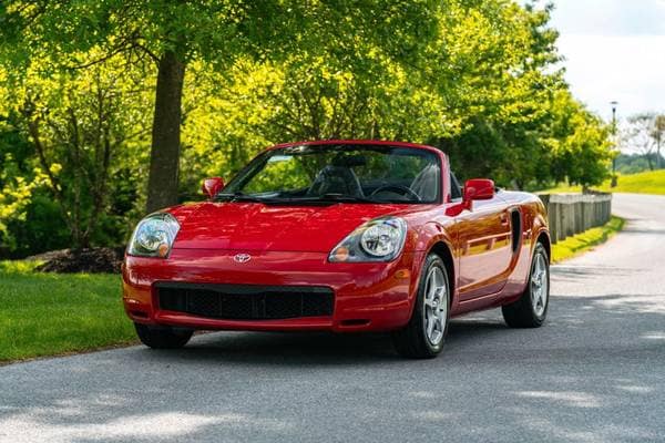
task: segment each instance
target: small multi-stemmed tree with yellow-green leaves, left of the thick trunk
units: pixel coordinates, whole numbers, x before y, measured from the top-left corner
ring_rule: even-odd
[[[49,79],[35,72],[41,68],[31,63],[20,83],[0,91],[0,99],[13,100],[9,112],[16,130],[28,135],[35,171],[33,185],[19,174],[14,179],[24,184],[23,207],[35,184],[45,185],[74,247],[88,247],[108,218],[111,183],[123,169],[119,159],[139,155],[130,147],[150,131],[142,70],[117,56]]]

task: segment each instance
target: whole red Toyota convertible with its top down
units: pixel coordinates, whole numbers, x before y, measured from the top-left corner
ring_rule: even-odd
[[[458,185],[423,145],[277,145],[207,202],[136,227],[123,300],[143,343],[194,330],[390,331],[399,353],[441,351],[450,318],[501,307],[509,326],[548,313],[550,238],[538,197]]]

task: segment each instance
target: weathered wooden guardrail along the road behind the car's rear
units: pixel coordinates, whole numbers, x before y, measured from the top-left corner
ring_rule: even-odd
[[[602,226],[612,217],[612,194],[541,194],[552,243]]]

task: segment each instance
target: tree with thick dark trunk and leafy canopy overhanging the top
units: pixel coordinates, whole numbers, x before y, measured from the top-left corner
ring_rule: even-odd
[[[387,56],[408,60],[436,30],[436,4],[432,0],[10,0],[2,3],[0,22],[9,37],[2,51],[13,61],[47,53],[69,66],[84,68],[129,53],[155,62],[146,204],[153,210],[177,200],[183,83],[193,59],[224,72],[241,56],[278,60],[317,51],[358,65],[358,42],[367,40]],[[90,61],[86,53],[98,49],[103,55]]]

